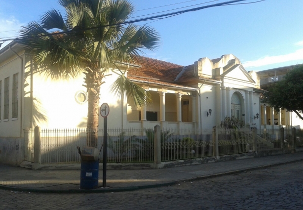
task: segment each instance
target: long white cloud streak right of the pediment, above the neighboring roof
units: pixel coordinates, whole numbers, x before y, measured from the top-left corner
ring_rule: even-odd
[[[286,55],[277,55],[277,56],[265,56],[264,58],[260,58],[258,60],[253,61],[247,61],[243,63],[243,66],[248,67],[259,67],[259,66],[265,66],[269,64],[275,64],[275,63],[283,63],[287,61],[293,61],[293,60],[303,60],[303,48],[298,49],[293,53],[289,53]]]

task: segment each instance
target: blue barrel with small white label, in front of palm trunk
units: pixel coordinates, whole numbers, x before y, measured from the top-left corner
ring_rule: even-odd
[[[82,161],[80,188],[91,190],[98,188],[99,161]]]

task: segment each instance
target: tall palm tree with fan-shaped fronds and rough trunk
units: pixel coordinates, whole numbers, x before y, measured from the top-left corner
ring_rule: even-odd
[[[88,130],[97,130],[100,86],[110,68],[119,70],[112,85],[114,94],[134,99],[138,106],[150,95],[125,77],[121,64],[133,62],[142,50],[154,50],[158,33],[148,26],[123,24],[134,12],[128,0],[59,0],[65,8],[51,9],[21,30],[21,42],[45,73],[54,78],[76,77],[84,73],[88,93]],[[89,133],[89,132],[88,132]],[[87,134],[86,144],[97,147],[98,133]]]

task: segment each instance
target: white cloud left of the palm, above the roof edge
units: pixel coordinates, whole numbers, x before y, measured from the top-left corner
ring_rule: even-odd
[[[18,35],[18,31],[21,29],[21,25],[25,25],[20,23],[14,16],[10,16],[8,18],[0,18],[0,41],[6,39],[14,39]],[[9,42],[4,42],[2,47],[8,44]]]

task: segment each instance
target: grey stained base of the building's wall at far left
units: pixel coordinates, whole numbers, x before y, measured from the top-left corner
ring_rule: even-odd
[[[0,163],[19,166],[24,161],[24,138],[0,137]]]

